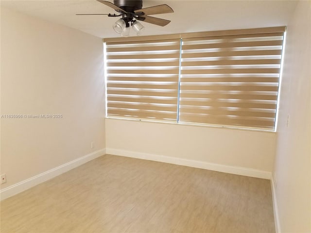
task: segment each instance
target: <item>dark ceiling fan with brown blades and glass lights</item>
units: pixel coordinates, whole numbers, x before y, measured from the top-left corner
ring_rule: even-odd
[[[114,0],[114,4],[110,1],[97,0],[106,6],[111,7],[118,13],[116,14],[76,14],[76,15],[107,15],[108,17],[119,17],[114,25],[113,29],[116,33],[121,33],[122,36],[129,36],[130,26],[133,30],[140,35],[144,30],[144,26],[139,23],[143,21],[146,23],[152,23],[159,26],[165,26],[171,21],[163,18],[151,17],[149,15],[173,13],[173,9],[166,4],[142,8],[142,0]]]

